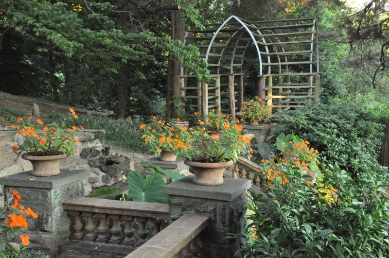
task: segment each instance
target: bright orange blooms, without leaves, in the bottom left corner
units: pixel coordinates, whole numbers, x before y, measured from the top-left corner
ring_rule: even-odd
[[[14,200],[14,203],[12,204],[12,208],[18,209],[22,214],[15,214],[11,213],[8,215],[7,220],[5,220],[5,225],[13,228],[13,227],[19,227],[21,230],[25,230],[28,227],[28,222],[23,214],[27,216],[31,216],[34,219],[38,217],[38,214],[36,214],[30,207],[25,208],[22,206],[19,201],[21,200],[21,197],[17,190],[12,191],[12,197]],[[30,237],[28,235],[20,235],[20,240],[22,245],[28,245],[30,243]]]

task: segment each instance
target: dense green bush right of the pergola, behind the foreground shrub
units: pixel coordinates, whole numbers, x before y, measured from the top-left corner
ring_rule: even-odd
[[[358,174],[387,172],[377,162],[384,125],[351,103],[311,104],[293,112],[280,113],[281,130],[307,139],[327,163]]]

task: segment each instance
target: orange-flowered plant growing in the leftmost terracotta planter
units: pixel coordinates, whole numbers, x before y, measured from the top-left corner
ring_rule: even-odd
[[[77,115],[72,108],[69,109],[69,119],[77,119]],[[74,130],[84,129],[82,126],[66,127],[66,120],[61,123],[49,123],[44,125],[40,119],[33,117],[24,119],[19,117],[17,124],[11,124],[9,128],[18,129],[18,133],[24,138],[23,143],[14,146],[14,152],[19,154],[22,151],[31,155],[73,155],[77,152],[79,138],[74,136]]]

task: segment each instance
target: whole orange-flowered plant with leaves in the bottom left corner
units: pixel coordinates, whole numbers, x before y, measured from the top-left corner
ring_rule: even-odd
[[[14,203],[11,205],[12,200]],[[18,234],[18,230],[25,230],[28,227],[28,222],[25,216],[31,216],[34,219],[38,215],[30,208],[24,207],[19,204],[21,197],[17,190],[12,191],[12,198],[4,203],[4,208],[0,211],[1,217],[5,219],[4,224],[0,224],[0,232],[6,231],[6,234],[9,238],[13,239]],[[8,219],[6,219],[8,218]],[[22,245],[29,245],[30,237],[28,235],[19,235]],[[16,249],[9,242],[0,239],[0,253],[6,253],[5,245],[9,247],[13,252],[18,253]],[[9,256],[11,257],[11,256]]]

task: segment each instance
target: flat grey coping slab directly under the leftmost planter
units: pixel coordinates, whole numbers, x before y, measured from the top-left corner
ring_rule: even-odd
[[[55,189],[70,183],[82,181],[89,176],[84,170],[61,169],[59,175],[34,176],[30,171],[0,177],[0,185],[11,187],[30,187],[40,189]]]

